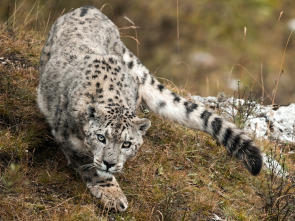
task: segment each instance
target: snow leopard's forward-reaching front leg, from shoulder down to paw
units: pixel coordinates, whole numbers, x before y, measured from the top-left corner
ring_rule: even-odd
[[[66,107],[67,103],[66,96],[60,96],[58,107]],[[105,208],[125,211],[128,207],[126,196],[112,174],[96,170],[93,154],[84,147],[83,138],[79,137],[79,134],[83,134],[79,131],[80,127],[73,123],[75,121],[67,111],[56,108],[55,112],[52,134],[67,157],[69,165],[81,175],[90,192],[101,199]]]

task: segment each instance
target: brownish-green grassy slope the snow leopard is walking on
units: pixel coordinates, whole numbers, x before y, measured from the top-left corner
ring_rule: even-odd
[[[0,26],[0,220],[294,220],[294,145],[257,141],[289,176],[252,177],[210,136],[141,112],[152,127],[118,175],[129,208],[105,211],[67,166],[37,108],[44,42],[37,31]]]

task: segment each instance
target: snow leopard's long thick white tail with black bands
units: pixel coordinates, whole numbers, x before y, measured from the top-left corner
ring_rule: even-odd
[[[128,49],[123,48],[123,62],[140,84],[140,96],[147,106],[165,119],[188,128],[209,133],[223,144],[246,168],[257,175],[262,167],[259,148],[245,132],[223,117],[165,88]]]

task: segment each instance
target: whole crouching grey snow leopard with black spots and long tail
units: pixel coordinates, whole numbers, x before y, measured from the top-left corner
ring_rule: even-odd
[[[114,175],[136,155],[151,126],[136,115],[141,103],[163,119],[212,135],[253,175],[262,167],[260,150],[244,131],[167,89],[92,6],[52,25],[41,53],[37,100],[69,165],[107,209],[128,207]]]

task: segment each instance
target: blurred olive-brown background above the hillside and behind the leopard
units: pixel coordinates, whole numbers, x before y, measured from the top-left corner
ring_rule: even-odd
[[[0,20],[45,39],[57,17],[83,5],[102,8],[152,73],[191,94],[233,95],[240,82],[270,104],[281,73],[275,103],[295,102],[294,0],[0,0]]]

